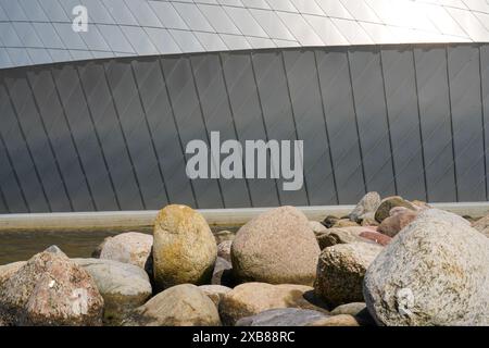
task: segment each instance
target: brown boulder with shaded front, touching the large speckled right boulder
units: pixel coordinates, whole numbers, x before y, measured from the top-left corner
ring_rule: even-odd
[[[363,301],[362,284],[368,265],[383,247],[376,244],[340,244],[323,250],[314,285],[331,307]]]

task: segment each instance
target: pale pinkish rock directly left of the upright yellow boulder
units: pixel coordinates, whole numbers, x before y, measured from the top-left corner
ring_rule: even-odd
[[[100,247],[99,259],[113,260],[152,270],[151,248],[153,236],[128,232],[108,237]]]

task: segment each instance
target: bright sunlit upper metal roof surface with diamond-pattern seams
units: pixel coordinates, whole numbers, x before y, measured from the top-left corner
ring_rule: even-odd
[[[73,9],[88,32],[72,30]],[[0,0],[0,69],[124,55],[488,42],[487,0]]]

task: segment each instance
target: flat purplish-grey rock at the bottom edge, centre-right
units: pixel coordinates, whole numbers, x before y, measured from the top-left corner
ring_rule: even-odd
[[[306,326],[327,314],[298,308],[279,308],[238,320],[236,326]]]

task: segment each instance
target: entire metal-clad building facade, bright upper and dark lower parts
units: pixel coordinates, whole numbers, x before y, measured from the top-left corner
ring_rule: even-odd
[[[0,0],[0,213],[485,201],[487,42],[485,0]],[[303,186],[190,179],[212,132]]]

